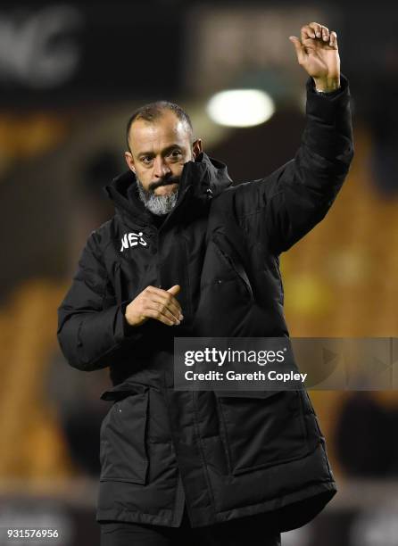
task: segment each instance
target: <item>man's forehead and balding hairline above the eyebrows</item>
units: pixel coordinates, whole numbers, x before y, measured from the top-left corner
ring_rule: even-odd
[[[130,128],[129,140],[134,145],[155,145],[167,142],[185,144],[189,139],[187,123],[173,112],[164,112],[159,118],[148,121],[135,120]]]

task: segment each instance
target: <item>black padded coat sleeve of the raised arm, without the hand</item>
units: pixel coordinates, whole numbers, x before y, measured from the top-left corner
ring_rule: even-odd
[[[318,95],[313,79],[307,80],[306,124],[294,159],[269,177],[242,185],[238,214],[241,219],[256,217],[258,224],[252,221],[251,230],[266,236],[276,254],[288,250],[325,217],[348,173],[352,119],[343,74],[340,84],[330,95]]]

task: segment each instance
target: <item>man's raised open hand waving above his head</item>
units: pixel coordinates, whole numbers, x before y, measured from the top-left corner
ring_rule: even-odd
[[[340,87],[340,56],[334,30],[311,22],[302,28],[302,40],[290,36],[298,63],[314,79],[319,91],[334,91]]]

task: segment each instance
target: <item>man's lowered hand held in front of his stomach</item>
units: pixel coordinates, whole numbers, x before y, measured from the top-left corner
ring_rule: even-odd
[[[130,326],[139,326],[148,318],[155,318],[167,326],[179,324],[184,317],[181,306],[174,297],[181,287],[174,285],[169,290],[146,286],[126,307],[126,320]]]

